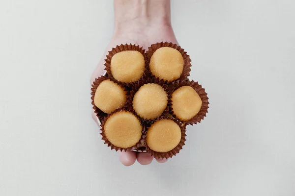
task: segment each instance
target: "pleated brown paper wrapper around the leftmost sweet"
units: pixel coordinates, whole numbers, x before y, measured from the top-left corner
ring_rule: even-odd
[[[98,119],[99,119],[99,121],[100,121],[101,123],[103,123],[105,117],[107,117],[108,114],[107,114],[107,113],[104,113],[104,112],[101,111],[98,107],[95,106],[95,104],[94,104],[94,96],[95,96],[95,91],[96,91],[97,87],[99,86],[99,84],[100,84],[102,81],[106,80],[106,79],[109,79],[109,80],[115,82],[115,83],[118,84],[120,87],[122,87],[123,89],[125,89],[127,99],[128,99],[128,97],[130,96],[130,95],[129,95],[129,91],[124,87],[124,85],[123,85],[122,83],[118,82],[116,79],[114,79],[114,78],[112,78],[112,77],[107,77],[107,76],[100,76],[100,77],[98,77],[98,78],[95,78],[95,81],[94,81],[94,82],[92,83],[92,85],[91,85],[91,86],[92,86],[92,88],[91,88],[91,96],[92,96],[92,97],[91,97],[91,100],[92,100],[92,101],[91,101],[91,104],[93,105],[92,108],[94,109],[94,113],[96,114],[96,116],[98,117]],[[127,102],[126,102],[126,103],[127,103]],[[123,108],[127,106],[126,103],[125,103],[125,105],[123,106]],[[119,108],[118,108],[118,109],[119,109]]]

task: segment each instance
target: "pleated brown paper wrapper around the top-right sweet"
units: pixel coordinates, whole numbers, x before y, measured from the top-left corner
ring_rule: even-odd
[[[187,52],[184,51],[184,49],[182,49],[180,46],[177,46],[176,44],[173,44],[171,42],[170,43],[168,43],[168,42],[156,43],[156,44],[152,44],[150,47],[148,47],[147,56],[146,56],[146,68],[148,71],[147,74],[152,75],[152,73],[149,70],[149,61],[150,61],[152,54],[157,49],[162,48],[162,47],[170,47],[173,49],[177,49],[183,57],[183,60],[184,60],[183,71],[182,71],[180,77],[174,81],[187,79],[187,77],[190,75],[190,71],[191,71],[191,66],[192,66],[190,63],[191,59],[189,58],[189,55],[187,54]],[[174,82],[174,81],[172,81],[172,82]],[[165,83],[168,83],[168,81],[165,81]]]

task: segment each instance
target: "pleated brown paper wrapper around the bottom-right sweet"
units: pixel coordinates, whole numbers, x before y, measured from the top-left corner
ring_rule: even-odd
[[[186,136],[186,134],[185,134],[185,132],[186,132],[185,128],[186,128],[186,126],[181,126],[180,122],[178,122],[176,119],[170,118],[170,117],[164,117],[164,116],[162,116],[157,121],[160,121],[160,120],[163,120],[163,119],[172,120],[175,123],[177,123],[178,126],[180,127],[180,130],[181,130],[181,138],[180,138],[179,144],[177,145],[177,147],[173,148],[172,150],[170,150],[168,152],[156,152],[156,151],[154,151],[154,150],[152,150],[152,149],[150,149],[148,147],[147,142],[146,142],[146,148],[147,148],[147,152],[149,154],[151,154],[152,156],[154,156],[155,158],[162,158],[162,159],[163,158],[166,158],[166,159],[168,159],[168,158],[172,158],[174,155],[176,155],[182,149],[182,147],[185,145],[185,141],[186,141],[186,139],[185,139],[185,136]],[[148,128],[150,126],[151,126],[151,124],[148,124],[147,126],[144,127],[145,134],[147,134]]]

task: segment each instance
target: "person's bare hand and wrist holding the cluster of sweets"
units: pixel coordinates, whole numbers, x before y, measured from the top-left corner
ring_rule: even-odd
[[[136,44],[148,50],[157,42],[177,44],[170,20],[170,0],[114,0],[115,27],[113,37],[104,55],[91,75],[90,82],[104,73],[104,59],[108,51],[120,44]],[[94,112],[92,118],[97,123]],[[131,166],[137,160],[148,165],[153,157],[146,152],[120,152],[119,160]],[[166,159],[156,159],[164,163]]]

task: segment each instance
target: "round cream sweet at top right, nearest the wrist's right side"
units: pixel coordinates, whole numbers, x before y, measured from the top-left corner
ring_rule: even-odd
[[[149,69],[156,77],[172,82],[180,77],[183,65],[183,57],[177,49],[162,47],[152,54]]]

